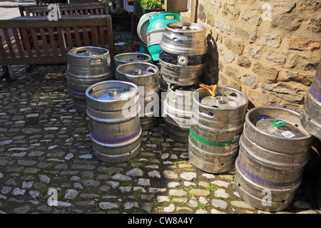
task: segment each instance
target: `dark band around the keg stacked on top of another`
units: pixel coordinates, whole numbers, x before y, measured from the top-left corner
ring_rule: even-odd
[[[159,50],[159,59],[161,59],[161,61],[164,61],[165,63],[177,65],[178,56],[179,55],[167,53],[161,49]],[[206,54],[197,55],[197,56],[188,56],[187,66],[197,66],[205,63],[205,56]]]

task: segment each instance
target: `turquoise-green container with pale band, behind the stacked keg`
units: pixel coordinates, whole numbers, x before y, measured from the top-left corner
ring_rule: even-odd
[[[165,31],[165,25],[177,21],[181,21],[180,13],[177,12],[165,11],[150,16],[146,35],[147,48],[153,61],[158,61],[159,43]]]

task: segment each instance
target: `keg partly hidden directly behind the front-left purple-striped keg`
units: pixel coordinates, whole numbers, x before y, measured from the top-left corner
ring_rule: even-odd
[[[126,63],[116,69],[119,81],[129,81],[138,86],[142,130],[151,130],[158,125],[161,87],[158,75],[158,67],[152,63]]]

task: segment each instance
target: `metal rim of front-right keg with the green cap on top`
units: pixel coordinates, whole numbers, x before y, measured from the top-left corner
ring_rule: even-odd
[[[258,129],[253,123],[252,121],[250,120],[250,115],[252,113],[254,113],[255,111],[258,111],[258,110],[262,110],[262,109],[265,109],[265,110],[268,110],[268,109],[271,109],[271,110],[282,110],[282,111],[285,111],[287,113],[291,113],[293,115],[296,115],[297,116],[297,120],[298,120],[298,123],[300,123],[300,113],[297,113],[295,112],[294,110],[290,110],[290,109],[287,109],[287,108],[282,108],[282,107],[275,107],[275,106],[260,106],[260,107],[256,107],[256,108],[252,108],[250,110],[248,110],[248,113],[246,113],[245,115],[245,123],[244,124],[249,124],[250,125],[250,128],[253,128],[255,130],[258,131],[258,133],[262,134],[262,135],[265,135],[265,136],[268,136],[270,138],[277,138],[277,139],[285,139],[284,137],[280,137],[280,136],[277,136],[277,135],[271,135],[269,133],[265,133],[263,130],[260,130]],[[277,117],[275,117],[276,119]],[[307,130],[305,130],[305,128],[303,128],[302,124],[300,123],[301,127],[300,129],[302,129],[305,133],[305,137],[300,137],[300,138],[287,138],[287,140],[293,140],[293,141],[297,141],[297,140],[309,140],[310,138],[312,138],[313,136],[307,132]]]

